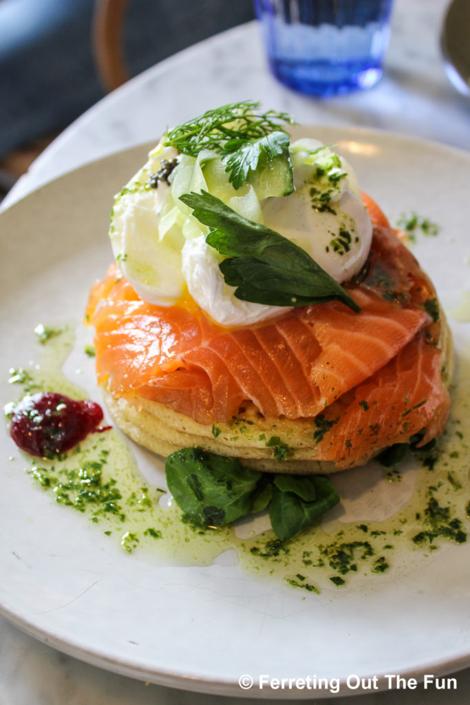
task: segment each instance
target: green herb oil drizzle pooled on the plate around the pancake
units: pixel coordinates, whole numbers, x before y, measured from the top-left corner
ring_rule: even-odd
[[[45,341],[39,338],[40,364],[11,369],[12,392],[22,392],[17,398],[37,391],[84,397],[60,371],[73,348],[73,330],[70,326],[56,330]],[[88,436],[56,460],[22,457],[28,474],[56,503],[78,510],[123,551],[142,552],[156,563],[210,565],[224,551],[235,549],[240,568],[249,575],[276,580],[316,599],[322,591],[335,594],[353,582],[365,580],[370,586],[370,581],[385,580],[397,570],[414,570],[431,554],[445,550],[448,541],[467,541],[470,350],[467,353],[451,389],[452,415],[445,434],[436,448],[418,450],[412,497],[382,521],[346,523],[337,508],[284,542],[268,528],[265,515],[255,515],[253,522],[236,527],[195,528],[183,521],[182,511],[161,483],[151,486],[144,481],[127,441],[116,429]],[[81,354],[84,365],[93,364],[83,348]],[[7,416],[14,405],[7,405]],[[217,430],[214,427],[214,434]],[[317,431],[326,429],[320,424]],[[269,439],[270,443],[276,450],[276,439]],[[409,468],[400,466],[398,472],[396,467],[384,467],[381,472],[383,481],[400,483]]]

